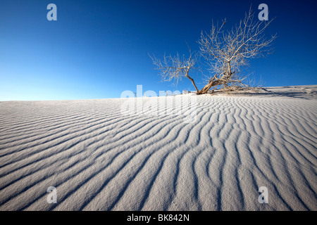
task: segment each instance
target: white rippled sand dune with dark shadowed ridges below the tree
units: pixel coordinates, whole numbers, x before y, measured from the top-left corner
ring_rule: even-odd
[[[317,210],[317,86],[185,97],[0,102],[0,210]]]

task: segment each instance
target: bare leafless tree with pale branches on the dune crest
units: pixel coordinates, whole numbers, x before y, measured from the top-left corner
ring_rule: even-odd
[[[197,89],[194,79],[189,77],[194,64],[197,63],[197,53],[194,57],[189,49],[190,56],[164,56],[163,61],[152,58],[154,65],[161,71],[164,81],[175,79],[178,82],[182,77],[191,80],[197,94],[206,94],[211,87],[220,86],[228,89],[229,86],[247,86],[244,78],[240,74],[241,68],[247,65],[249,58],[258,58],[271,53],[271,44],[276,35],[266,39],[264,30],[272,22],[266,20],[254,20],[254,13],[249,9],[244,20],[240,20],[238,25],[231,30],[224,31],[226,20],[219,26],[212,24],[211,31],[201,32],[199,39],[199,56],[206,60],[206,65],[211,72],[206,85],[202,89]]]

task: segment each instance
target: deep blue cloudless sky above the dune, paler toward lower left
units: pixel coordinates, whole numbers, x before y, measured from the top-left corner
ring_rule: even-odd
[[[57,6],[48,21],[46,6]],[[268,5],[275,52],[250,60],[264,86],[317,84],[317,1],[0,1],[0,101],[120,98],[122,91],[191,89],[161,82],[148,53],[198,49],[211,20],[238,23]],[[201,75],[192,75],[199,87]]]

